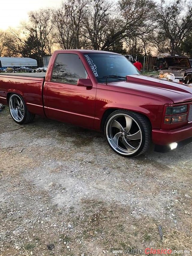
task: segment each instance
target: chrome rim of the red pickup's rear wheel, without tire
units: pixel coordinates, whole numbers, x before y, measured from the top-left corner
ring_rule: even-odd
[[[25,108],[22,99],[18,95],[13,94],[10,96],[9,109],[12,118],[16,122],[22,122],[25,115]]]

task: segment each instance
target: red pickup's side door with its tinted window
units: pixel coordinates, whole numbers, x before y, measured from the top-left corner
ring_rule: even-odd
[[[59,53],[50,82],[44,84],[45,114],[51,119],[94,127],[96,87],[77,86],[88,74],[77,54]]]

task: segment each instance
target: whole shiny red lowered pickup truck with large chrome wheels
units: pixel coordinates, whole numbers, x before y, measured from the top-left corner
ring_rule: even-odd
[[[16,74],[17,75],[17,74]],[[45,76],[0,74],[0,103],[13,120],[35,114],[104,131],[123,156],[167,152],[192,141],[192,89],[145,77],[124,56],[95,50],[58,50]]]

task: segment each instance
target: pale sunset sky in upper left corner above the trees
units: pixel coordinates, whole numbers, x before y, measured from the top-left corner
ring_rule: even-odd
[[[1,0],[0,29],[19,26],[20,21],[27,20],[28,12],[39,8],[58,7],[62,0]]]

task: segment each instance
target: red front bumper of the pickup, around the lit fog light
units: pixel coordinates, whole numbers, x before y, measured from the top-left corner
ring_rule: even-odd
[[[175,130],[152,130],[152,141],[155,144],[155,151],[168,152],[170,144],[177,143],[177,148],[192,142],[192,124]]]

